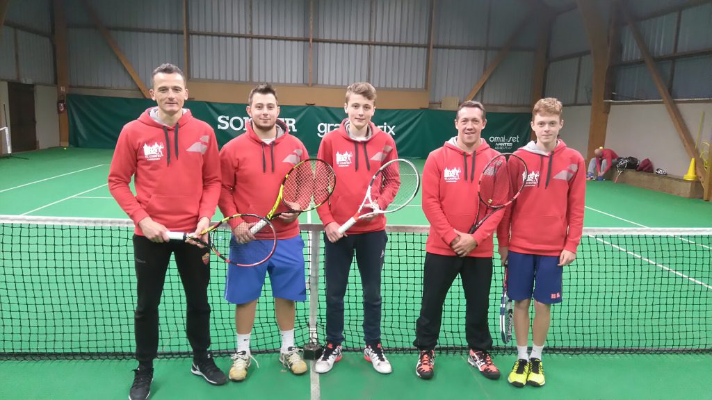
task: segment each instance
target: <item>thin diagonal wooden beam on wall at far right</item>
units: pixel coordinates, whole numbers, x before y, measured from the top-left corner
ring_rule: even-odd
[[[670,115],[670,118],[672,120],[672,123],[675,127],[675,131],[680,137],[680,140],[682,141],[683,146],[685,147],[685,150],[687,152],[687,155],[690,158],[695,159],[695,166],[697,169],[697,177],[699,179],[702,179],[703,184],[704,184],[704,177],[705,177],[705,170],[702,164],[702,160],[699,157],[699,154],[697,153],[697,149],[695,148],[695,142],[692,139],[692,135],[690,134],[690,130],[687,127],[687,124],[685,123],[685,120],[682,118],[682,115],[680,114],[680,110],[675,104],[674,100],[672,99],[672,96],[670,95],[667,86],[663,82],[660,73],[658,72],[657,67],[655,66],[655,61],[653,60],[652,56],[650,56],[650,51],[648,50],[648,46],[645,44],[643,41],[643,36],[640,34],[640,31],[638,30],[638,27],[635,24],[635,21],[633,21],[630,18],[630,14],[628,13],[628,10],[624,6],[624,4],[621,4],[621,10],[623,12],[623,16],[626,19],[628,26],[630,27],[631,33],[633,33],[633,38],[635,39],[635,43],[637,43],[638,48],[640,50],[641,55],[643,56],[643,59],[645,60],[645,65],[648,67],[648,72],[650,73],[651,78],[653,78],[653,82],[655,83],[655,87],[658,89],[658,93],[660,94],[660,97],[663,99],[663,102],[665,104],[665,108]],[[704,188],[705,190],[707,189],[706,187]]]

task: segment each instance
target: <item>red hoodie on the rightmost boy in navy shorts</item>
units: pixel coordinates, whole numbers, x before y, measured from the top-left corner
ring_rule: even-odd
[[[507,207],[497,230],[500,246],[540,256],[559,256],[563,249],[575,253],[583,232],[586,195],[583,157],[562,140],[558,140],[550,154],[533,141],[514,154],[527,164],[528,175],[524,189]],[[521,182],[521,163],[510,165],[512,180]]]

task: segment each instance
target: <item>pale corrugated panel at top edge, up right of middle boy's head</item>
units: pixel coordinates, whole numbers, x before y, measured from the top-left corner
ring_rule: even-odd
[[[375,41],[428,43],[429,0],[377,1],[374,6]]]

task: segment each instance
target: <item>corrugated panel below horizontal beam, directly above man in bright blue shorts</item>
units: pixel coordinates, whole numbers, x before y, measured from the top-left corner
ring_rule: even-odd
[[[253,80],[268,83],[304,84],[309,43],[253,40]]]

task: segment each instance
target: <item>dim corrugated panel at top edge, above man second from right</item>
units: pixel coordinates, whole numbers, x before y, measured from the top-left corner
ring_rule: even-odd
[[[489,5],[488,0],[439,0],[435,11],[434,44],[487,46]]]

